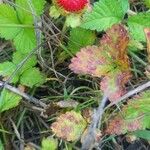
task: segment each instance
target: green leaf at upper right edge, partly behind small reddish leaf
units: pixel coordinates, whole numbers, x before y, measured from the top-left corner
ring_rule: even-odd
[[[150,27],[150,13],[139,13],[128,19],[131,36],[138,41],[146,41],[144,28]]]

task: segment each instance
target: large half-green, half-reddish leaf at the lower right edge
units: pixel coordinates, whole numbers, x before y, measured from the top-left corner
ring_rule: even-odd
[[[109,121],[107,133],[124,134],[150,128],[150,91],[129,100],[122,111]]]

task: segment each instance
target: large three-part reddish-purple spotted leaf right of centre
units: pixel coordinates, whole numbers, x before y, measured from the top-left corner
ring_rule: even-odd
[[[125,93],[124,86],[131,77],[127,56],[129,37],[122,25],[113,25],[100,40],[100,46],[82,48],[73,57],[69,68],[77,74],[104,77],[101,89],[110,101]]]

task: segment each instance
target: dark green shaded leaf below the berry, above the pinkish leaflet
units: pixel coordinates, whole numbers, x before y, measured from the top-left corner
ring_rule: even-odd
[[[68,49],[76,54],[81,48],[93,45],[95,42],[95,33],[83,28],[74,28],[70,32]]]

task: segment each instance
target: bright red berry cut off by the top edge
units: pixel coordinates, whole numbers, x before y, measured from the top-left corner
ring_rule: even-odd
[[[57,5],[68,12],[79,12],[87,5],[88,0],[56,0]]]

